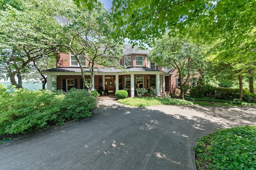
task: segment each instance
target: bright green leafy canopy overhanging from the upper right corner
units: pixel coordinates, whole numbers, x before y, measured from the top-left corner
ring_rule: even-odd
[[[256,31],[256,13],[251,10],[256,8],[254,0],[113,0],[112,5],[116,24],[134,43],[153,44],[167,32],[188,35],[199,44],[218,42],[215,50],[224,51],[222,57],[234,53],[232,49],[255,57],[255,42],[250,35]],[[236,49],[242,42],[246,42],[245,47]]]

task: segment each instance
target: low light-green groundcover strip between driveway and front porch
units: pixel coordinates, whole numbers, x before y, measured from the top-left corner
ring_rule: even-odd
[[[156,105],[193,105],[192,102],[180,99],[169,99],[169,98],[126,98],[119,99],[119,103],[126,104],[129,106],[146,107]]]

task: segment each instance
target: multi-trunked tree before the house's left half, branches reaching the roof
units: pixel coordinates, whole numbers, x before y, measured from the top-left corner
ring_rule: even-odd
[[[72,4],[64,6],[58,20],[63,29],[62,46],[78,61],[84,86],[89,92],[99,67],[122,68],[120,59],[123,38],[120,31],[114,27],[110,12],[101,5],[94,5],[91,11]],[[86,66],[82,64],[84,57],[88,63]],[[90,69],[90,86],[84,79],[85,67]]]

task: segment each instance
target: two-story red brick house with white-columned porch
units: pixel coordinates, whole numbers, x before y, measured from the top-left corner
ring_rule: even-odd
[[[94,76],[92,89],[99,90],[101,86],[109,92],[126,89],[131,97],[136,95],[136,88],[151,87],[157,96],[160,96],[161,92],[174,92],[178,86],[177,77],[173,75],[175,69],[165,69],[150,63],[147,60],[149,50],[140,50],[136,47],[132,48],[132,45],[126,45],[123,51],[124,57],[120,63],[127,67],[126,71],[101,68]],[[85,58],[80,57],[80,60],[85,66],[84,72],[88,72],[85,79],[89,82],[90,70],[86,68],[88,63]],[[46,70],[46,74],[48,90],[52,90],[53,76],[57,79],[57,90],[68,92],[70,88],[84,89],[80,67],[71,53],[59,53],[56,68]],[[176,81],[172,82],[172,80]]]

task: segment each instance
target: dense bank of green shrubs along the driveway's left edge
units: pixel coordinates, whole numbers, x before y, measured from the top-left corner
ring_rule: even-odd
[[[49,125],[62,125],[65,120],[90,116],[96,98],[84,90],[64,95],[20,89],[2,94],[0,103],[0,135],[4,135],[30,133]]]

